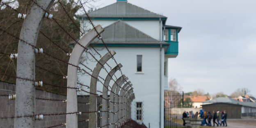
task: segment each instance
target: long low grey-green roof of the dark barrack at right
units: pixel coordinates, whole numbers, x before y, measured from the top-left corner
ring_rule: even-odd
[[[232,98],[229,98],[229,97],[219,97],[219,98],[214,98],[212,100],[203,102],[203,104],[207,104],[207,103],[230,103],[230,104],[234,104],[234,105],[256,107],[256,103],[254,103],[254,102],[241,102],[241,101],[237,101]]]

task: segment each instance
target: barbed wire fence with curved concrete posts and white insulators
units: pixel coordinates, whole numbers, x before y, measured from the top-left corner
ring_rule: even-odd
[[[54,15],[48,11],[54,1],[55,0],[31,0],[32,5],[27,14],[20,13],[18,10],[9,6],[8,3],[1,1],[1,5],[6,5],[14,10],[18,14],[18,18],[24,19],[24,21],[20,37],[17,37],[12,34],[12,32],[8,32],[4,28],[0,27],[0,31],[18,40],[18,53],[5,53],[0,51],[0,55],[9,56],[10,59],[17,59],[16,76],[0,73],[0,75],[5,77],[16,78],[16,94],[0,94],[0,97],[15,100],[15,114],[14,116],[6,115],[6,117],[0,117],[0,119],[14,119],[14,128],[38,127],[35,126],[35,121],[43,120],[44,117],[59,115],[66,115],[66,122],[55,124],[53,126],[46,126],[45,128],[54,128],[59,126],[66,126],[66,128],[77,128],[78,123],[83,121],[89,122],[89,128],[115,128],[116,126],[123,126],[123,124],[128,122],[131,118],[130,104],[135,98],[135,95],[133,93],[131,82],[128,81],[128,78],[125,75],[123,75],[121,70],[122,65],[118,64],[117,60],[114,58],[114,55],[116,54],[115,51],[109,50],[101,37],[101,33],[104,31],[104,29],[100,25],[95,26],[93,24],[89,15],[87,14],[87,11],[85,11],[85,7],[83,6],[81,0],[79,0],[82,9],[93,27],[93,29],[86,34],[83,33],[82,30],[80,30],[80,28],[75,24],[68,11],[66,11],[62,2],[57,0],[73,25],[75,25],[76,29],[78,29],[78,31],[81,33],[82,38],[77,41],[77,39],[72,37],[71,34],[69,34],[69,32],[59,23]],[[53,21],[53,23],[56,23],[64,31],[64,33],[76,43],[71,53],[65,50],[62,46],[58,45],[55,41],[53,41],[53,39],[50,39],[46,33],[40,31],[41,23],[45,18]],[[37,47],[37,36],[39,33],[53,43],[57,48],[61,49],[67,56],[69,56],[69,62],[66,62],[63,59],[44,51],[43,48]],[[96,38],[100,39],[104,44],[107,50],[105,55],[101,55],[99,51],[94,48],[94,46],[90,45],[90,43]],[[90,46],[96,54],[92,53],[88,46]],[[82,64],[82,62],[80,62],[80,58],[84,52],[91,55],[91,57],[97,62],[94,69],[89,68],[86,66],[86,64]],[[55,73],[54,71],[37,65],[35,61],[36,54],[43,57],[51,57],[56,61],[67,64],[67,75]],[[97,57],[95,55],[98,55],[100,59],[96,59]],[[110,61],[110,59],[112,59],[116,64],[114,68],[107,63]],[[91,73],[83,69],[83,67],[79,66],[79,64],[88,69]],[[106,66],[110,68],[110,71],[107,71]],[[36,80],[34,73],[35,68],[46,71],[53,75],[57,75],[60,78],[67,79],[67,86],[64,87],[45,81]],[[102,69],[107,73],[105,78],[99,76]],[[77,81],[78,71],[84,72],[91,77],[90,85],[84,85]],[[116,76],[117,71],[121,73],[119,78]],[[116,79],[114,79],[113,76]],[[110,80],[114,82],[114,85],[110,86]],[[98,83],[103,85],[102,90],[97,90]],[[57,99],[54,97],[36,97],[35,87],[42,86],[65,88],[67,90],[66,99]],[[89,95],[89,102],[78,102],[77,93],[80,91]],[[97,93],[101,93],[102,95]],[[110,96],[108,96],[108,93],[110,93]],[[101,98],[102,103],[98,103],[97,98]],[[43,114],[37,113],[35,111],[35,100],[62,102],[64,103],[63,105],[66,105],[66,112]],[[85,105],[85,107],[89,106],[89,111],[78,112],[78,103]],[[98,110],[98,107],[102,107],[102,110]],[[78,121],[78,115],[82,114],[89,114],[89,118]],[[100,114],[101,117],[99,116]],[[98,126],[100,119],[101,126]]]

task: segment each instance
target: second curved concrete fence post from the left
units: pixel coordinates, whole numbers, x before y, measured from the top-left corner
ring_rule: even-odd
[[[99,33],[102,33],[104,29],[101,25],[96,26],[96,30]],[[94,29],[90,30],[85,34],[79,41],[82,46],[87,47],[98,34]],[[78,66],[80,57],[84,53],[85,48],[81,47],[79,44],[76,44],[71,56],[69,58],[69,63]],[[78,68],[72,65],[68,66],[68,78],[67,78],[67,87],[77,87],[77,71]],[[67,89],[67,105],[66,112],[77,112],[77,92],[75,89]],[[67,114],[66,115],[66,128],[77,128],[78,127],[78,116],[77,114]]]

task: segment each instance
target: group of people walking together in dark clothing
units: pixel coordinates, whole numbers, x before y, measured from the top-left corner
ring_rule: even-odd
[[[182,119],[183,119],[183,126],[186,125],[184,118],[198,118],[198,119],[203,119],[201,126],[212,126],[211,120],[213,119],[213,126],[215,124],[217,126],[227,126],[226,119],[227,119],[227,113],[226,110],[222,112],[215,112],[213,111],[213,114],[211,112],[206,112],[204,110],[200,110],[200,112],[196,112],[196,114],[193,113],[193,111],[186,112],[184,111],[182,114]],[[216,122],[217,120],[217,122]]]

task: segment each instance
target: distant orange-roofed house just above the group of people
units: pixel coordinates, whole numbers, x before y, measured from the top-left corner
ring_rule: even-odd
[[[207,96],[187,96],[186,98],[191,99],[194,108],[201,108],[204,101],[210,100],[210,98]]]

